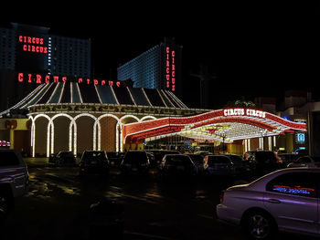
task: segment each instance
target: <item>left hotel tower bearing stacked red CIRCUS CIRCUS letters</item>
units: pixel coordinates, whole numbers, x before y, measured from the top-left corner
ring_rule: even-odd
[[[21,72],[91,78],[91,41],[50,35],[45,26],[0,27],[0,110],[37,88],[36,83],[17,86]]]

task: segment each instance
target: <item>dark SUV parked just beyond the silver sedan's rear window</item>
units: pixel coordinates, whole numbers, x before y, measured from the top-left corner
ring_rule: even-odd
[[[251,172],[258,175],[275,171],[280,167],[273,151],[247,151],[244,159],[248,161]]]

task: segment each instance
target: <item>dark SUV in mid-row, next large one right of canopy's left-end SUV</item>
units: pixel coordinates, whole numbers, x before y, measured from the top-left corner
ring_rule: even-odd
[[[161,178],[192,177],[196,175],[196,166],[187,154],[166,154],[159,165]]]

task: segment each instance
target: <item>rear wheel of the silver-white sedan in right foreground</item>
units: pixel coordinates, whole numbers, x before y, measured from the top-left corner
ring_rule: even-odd
[[[272,217],[262,211],[248,214],[243,224],[246,233],[252,239],[270,239],[276,232],[276,224]]]

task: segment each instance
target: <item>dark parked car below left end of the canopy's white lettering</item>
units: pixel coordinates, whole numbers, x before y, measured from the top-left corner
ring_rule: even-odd
[[[233,176],[235,173],[233,162],[224,155],[207,155],[203,169],[207,175]]]

